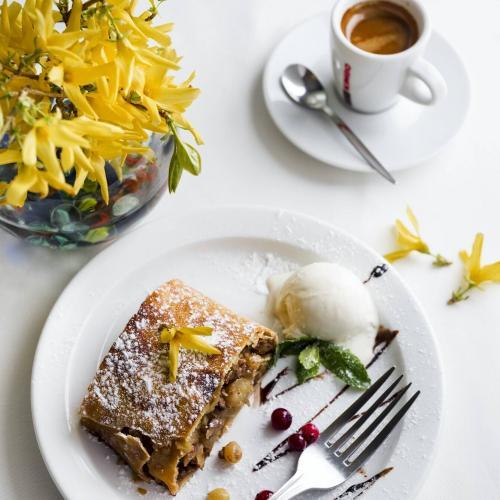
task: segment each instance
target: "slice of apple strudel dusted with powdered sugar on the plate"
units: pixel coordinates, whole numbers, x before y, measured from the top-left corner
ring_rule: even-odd
[[[196,327],[211,331],[203,339],[218,354],[176,344],[174,368],[169,351],[175,340],[165,342],[163,335]],[[81,405],[81,423],[137,476],[175,495],[247,402],[276,342],[268,328],[181,281],[168,281],[146,298],[101,362]]]

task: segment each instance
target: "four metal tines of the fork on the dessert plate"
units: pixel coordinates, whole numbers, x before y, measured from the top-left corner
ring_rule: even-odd
[[[389,436],[392,430],[396,427],[399,421],[403,418],[405,413],[410,409],[412,404],[420,395],[420,391],[415,392],[410,399],[397,411],[397,413],[389,420],[389,422],[383,427],[383,429],[372,439],[372,441],[364,448],[364,450],[354,459],[351,457],[354,453],[368,441],[368,438],[374,434],[376,428],[384,421],[384,419],[391,413],[391,411],[396,407],[401,398],[406,394],[408,389],[411,387],[411,383],[404,386],[402,389],[393,391],[396,389],[397,385],[403,378],[399,376],[391,385],[371,404],[371,406],[358,415],[361,408],[368,403],[368,401],[378,392],[378,390],[384,385],[384,383],[389,379],[391,374],[394,372],[395,368],[392,367],[387,370],[377,381],[375,381],[369,389],[367,389],[354,403],[347,408],[329,427],[327,427],[321,433],[321,441],[323,444],[330,449],[334,454],[336,459],[347,467],[348,469],[355,471],[379,448],[383,441]],[[376,410],[382,405],[385,405],[383,411],[381,411],[373,422],[369,423],[367,427],[355,437],[355,434],[361,427],[368,422],[370,417],[374,415]],[[358,417],[358,418],[356,418]],[[356,418],[355,422],[347,429],[340,437],[336,437],[339,430],[342,429],[347,423],[349,423],[353,418]],[[355,439],[354,439],[355,438]],[[354,439],[347,448],[342,447],[348,443],[351,439]]]

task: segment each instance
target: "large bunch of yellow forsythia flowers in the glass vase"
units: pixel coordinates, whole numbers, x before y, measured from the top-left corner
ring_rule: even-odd
[[[149,151],[149,132],[173,134],[174,155],[189,146],[177,127],[201,143],[183,116],[199,94],[194,74],[174,82],[180,57],[172,24],[153,26],[155,0],[139,13],[135,0],[0,1],[0,166],[13,170],[0,203],[50,188],[74,196],[86,179],[107,202],[105,163],[120,177],[127,154]],[[179,168],[199,173],[198,153],[185,150],[177,182]]]

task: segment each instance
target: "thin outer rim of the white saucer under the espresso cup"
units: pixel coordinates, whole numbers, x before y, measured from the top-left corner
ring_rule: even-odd
[[[294,147],[296,147],[297,149],[302,151],[308,157],[313,158],[313,159],[319,161],[320,163],[322,163],[323,165],[326,165],[328,167],[339,168],[341,170],[346,170],[349,172],[357,172],[357,173],[361,173],[361,174],[373,174],[374,171],[372,169],[370,169],[368,165],[361,166],[361,164],[352,163],[352,162],[351,163],[340,162],[336,159],[328,159],[326,157],[323,157],[322,155],[312,153],[310,150],[308,150],[306,147],[304,147],[301,143],[298,143],[297,141],[295,141],[295,139],[288,132],[287,127],[283,126],[282,123],[276,119],[275,113],[273,111],[274,106],[271,102],[271,97],[269,95],[269,88],[272,85],[272,83],[270,83],[270,80],[271,80],[270,72],[271,72],[271,65],[274,62],[273,58],[275,56],[275,53],[280,49],[280,47],[282,45],[285,44],[288,37],[294,31],[296,31],[298,28],[302,27],[303,25],[305,25],[307,23],[312,23],[315,20],[323,19],[324,17],[330,18],[330,15],[331,15],[330,11],[323,11],[319,14],[314,14],[314,15],[294,24],[281,37],[281,39],[274,45],[266,63],[265,63],[264,71],[262,73],[261,88],[262,88],[262,94],[264,97],[264,102],[266,105],[267,112],[268,112],[269,116],[271,117],[271,120],[272,120],[273,124],[275,125],[275,127],[279,130],[279,132],[283,135],[283,137],[285,137],[285,139],[290,144],[292,144]],[[464,106],[464,111],[463,111],[463,118],[460,121],[458,127],[456,127],[456,130],[445,141],[443,141],[438,147],[436,147],[433,151],[429,152],[427,155],[420,156],[418,160],[409,159],[406,162],[401,162],[401,163],[397,164],[396,166],[386,166],[387,170],[389,170],[390,172],[399,172],[399,171],[409,170],[411,168],[425,165],[429,160],[435,158],[438,154],[440,154],[446,148],[446,146],[448,146],[448,144],[450,144],[451,141],[453,141],[455,139],[455,137],[458,135],[460,130],[463,128],[463,125],[465,124],[465,121],[467,120],[467,116],[469,114],[469,110],[471,107],[471,80],[470,80],[470,76],[469,76],[469,73],[467,71],[467,68],[465,66],[465,63],[464,63],[463,59],[460,57],[459,53],[455,50],[453,45],[451,45],[448,42],[448,40],[443,35],[441,35],[438,31],[436,31],[435,29],[432,29],[428,45],[432,42],[432,39],[434,39],[434,38],[439,39],[442,43],[447,45],[451,49],[451,51],[456,55],[457,60],[461,66],[462,72],[465,76],[464,86],[466,89],[466,93],[465,93],[466,99],[464,99],[465,106]],[[384,112],[385,111],[382,111],[382,113],[384,113]],[[362,114],[362,113],[360,113],[360,114]]]

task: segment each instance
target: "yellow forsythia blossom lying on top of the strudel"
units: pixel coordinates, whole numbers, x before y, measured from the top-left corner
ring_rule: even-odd
[[[179,368],[179,348],[202,352],[203,354],[220,354],[219,349],[207,344],[198,336],[212,335],[213,329],[209,326],[163,328],[160,332],[160,342],[168,344],[169,380],[175,382]]]

